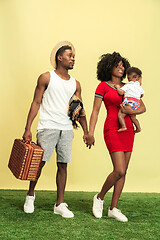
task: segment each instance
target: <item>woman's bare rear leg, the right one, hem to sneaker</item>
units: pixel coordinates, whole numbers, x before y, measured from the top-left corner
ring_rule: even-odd
[[[131,152],[124,152],[124,160],[125,160],[125,175],[127,172],[127,168],[128,168],[128,164],[131,158]],[[123,186],[125,183],[125,175],[120,178],[114,185],[114,191],[113,191],[113,195],[112,195],[112,201],[111,201],[111,207],[110,209],[113,209],[114,207],[117,207],[118,204],[118,200],[120,198],[120,195],[122,193],[123,190]]]

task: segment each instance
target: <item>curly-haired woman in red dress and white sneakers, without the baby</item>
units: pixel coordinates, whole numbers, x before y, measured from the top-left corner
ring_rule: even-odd
[[[122,79],[126,76],[126,69],[130,66],[127,59],[119,53],[104,54],[97,66],[97,78],[101,81],[95,92],[93,110],[90,118],[89,134],[87,145],[91,148],[94,145],[94,131],[98,119],[99,110],[104,101],[107,109],[107,118],[104,123],[104,140],[111,156],[113,171],[109,174],[101,191],[93,198],[93,215],[96,218],[102,217],[103,199],[108,190],[114,186],[111,206],[108,209],[108,216],[122,222],[127,222],[127,217],[117,209],[124,183],[125,175],[130,161],[134,129],[129,115],[125,117],[127,130],[118,132],[119,121],[118,111],[122,103],[122,96],[118,95],[115,84],[123,86]],[[124,106],[122,111],[127,114],[140,114],[145,112],[145,106],[140,101],[140,108],[132,110],[130,106]]]

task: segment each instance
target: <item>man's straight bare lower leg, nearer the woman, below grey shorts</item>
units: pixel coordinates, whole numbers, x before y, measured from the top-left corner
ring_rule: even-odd
[[[63,202],[64,191],[67,180],[67,163],[57,162],[57,176],[56,176],[56,184],[57,184],[57,203],[56,206]]]

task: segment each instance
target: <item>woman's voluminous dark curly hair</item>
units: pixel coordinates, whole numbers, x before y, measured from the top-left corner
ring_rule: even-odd
[[[100,57],[100,61],[97,65],[97,78],[101,82],[106,82],[111,80],[111,71],[113,67],[117,67],[118,63],[122,61],[124,66],[124,73],[121,78],[124,79],[126,77],[126,70],[130,67],[130,63],[126,58],[123,58],[119,53],[113,52],[112,54],[107,53],[103,54]]]

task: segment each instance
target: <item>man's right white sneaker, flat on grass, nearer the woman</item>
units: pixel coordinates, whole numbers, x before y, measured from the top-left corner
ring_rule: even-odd
[[[57,207],[55,204],[54,205],[54,213],[59,214],[64,218],[74,217],[74,214],[67,207],[68,207],[68,205],[66,203],[61,203]]]

